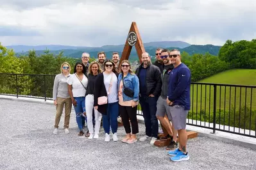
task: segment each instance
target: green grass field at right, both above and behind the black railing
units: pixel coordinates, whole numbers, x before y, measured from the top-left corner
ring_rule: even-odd
[[[213,75],[207,79],[203,79],[200,82],[256,86],[256,70],[228,70],[226,72]],[[256,88],[222,85],[216,86],[217,123],[220,122],[223,124],[225,122],[226,125],[227,121],[230,121],[230,119],[232,119],[232,122],[240,120],[244,123],[239,121],[239,125],[248,124],[248,127],[250,127],[250,124],[252,124],[255,128],[255,111]],[[212,122],[213,112],[214,86],[192,84],[191,111],[189,114],[191,119]],[[241,127],[243,127],[243,125],[241,125]]]

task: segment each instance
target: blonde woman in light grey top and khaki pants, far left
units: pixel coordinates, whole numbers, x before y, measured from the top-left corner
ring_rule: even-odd
[[[58,124],[62,116],[63,107],[65,105],[64,132],[69,134],[69,120],[72,107],[71,97],[67,88],[67,79],[70,76],[71,66],[69,63],[62,63],[60,66],[61,73],[55,76],[53,84],[53,102],[56,105],[55,129],[53,134],[58,134]]]

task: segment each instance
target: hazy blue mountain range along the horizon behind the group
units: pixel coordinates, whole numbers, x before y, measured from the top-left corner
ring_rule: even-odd
[[[17,56],[28,54],[29,50],[35,50],[37,55],[44,54],[45,50],[50,50],[51,53],[57,55],[60,52],[64,53],[64,56],[71,58],[80,58],[82,52],[89,52],[91,57],[97,58],[99,51],[105,51],[107,58],[111,58],[112,52],[119,52],[120,56],[122,54],[123,45],[104,45],[102,47],[81,47],[81,46],[69,46],[69,45],[10,45],[6,46],[8,49],[13,49],[16,52]],[[167,49],[179,49],[181,52],[185,51],[192,54],[205,54],[209,52],[214,56],[218,56],[219,49],[221,46],[216,45],[191,45],[187,42],[182,41],[169,41],[169,42],[148,42],[144,43],[144,48],[150,56],[155,56],[155,49],[158,47],[167,48]],[[132,48],[130,54],[130,60],[137,60],[137,52],[135,47]]]

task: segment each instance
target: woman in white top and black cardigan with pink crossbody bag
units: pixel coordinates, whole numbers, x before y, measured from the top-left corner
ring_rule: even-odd
[[[113,141],[117,138],[117,76],[115,63],[107,59],[104,63],[105,71],[99,73],[94,86],[94,109],[103,114],[103,128],[105,130],[105,141],[110,141],[110,125],[113,134]]]

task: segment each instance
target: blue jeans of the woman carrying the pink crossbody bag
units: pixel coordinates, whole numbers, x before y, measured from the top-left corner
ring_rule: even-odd
[[[102,114],[103,116],[103,128],[105,133],[109,134],[110,125],[112,133],[117,132],[117,116],[118,116],[118,102],[108,104],[107,114]]]

